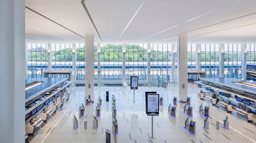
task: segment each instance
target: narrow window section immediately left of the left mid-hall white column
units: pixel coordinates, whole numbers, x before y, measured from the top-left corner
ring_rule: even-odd
[[[86,79],[86,47],[84,44],[75,44],[76,49],[76,62],[75,62],[75,72],[76,80]]]

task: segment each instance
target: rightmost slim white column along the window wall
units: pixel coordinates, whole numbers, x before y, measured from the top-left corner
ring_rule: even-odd
[[[247,47],[246,44],[242,44],[241,51],[241,74],[242,78],[246,80],[246,55],[247,55]]]

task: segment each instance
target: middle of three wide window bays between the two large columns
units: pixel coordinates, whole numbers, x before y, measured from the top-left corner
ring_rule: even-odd
[[[125,79],[131,75],[139,77],[140,81],[147,80],[147,45],[126,44],[125,46]]]

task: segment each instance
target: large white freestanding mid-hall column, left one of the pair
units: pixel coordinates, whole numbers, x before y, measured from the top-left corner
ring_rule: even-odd
[[[86,35],[86,96],[94,102],[94,36]]]

